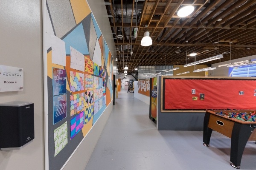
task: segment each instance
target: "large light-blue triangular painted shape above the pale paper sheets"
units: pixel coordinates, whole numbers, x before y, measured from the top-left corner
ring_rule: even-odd
[[[84,55],[89,54],[82,23],[71,31],[63,41],[66,42],[66,54],[70,54],[70,46]]]

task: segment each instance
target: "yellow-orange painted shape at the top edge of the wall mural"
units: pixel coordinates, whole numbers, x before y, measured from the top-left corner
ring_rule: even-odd
[[[86,0],[70,0],[73,14],[75,16],[76,24],[80,23],[88,14],[90,14],[90,8]]]

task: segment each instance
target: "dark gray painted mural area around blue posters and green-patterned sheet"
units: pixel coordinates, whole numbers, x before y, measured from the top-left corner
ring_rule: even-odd
[[[70,92],[67,91],[67,117],[61,120],[60,122],[53,125],[53,102],[52,102],[52,79],[47,77],[48,83],[48,152],[49,152],[49,170],[60,170],[61,167],[65,164],[67,159],[79,145],[79,143],[84,138],[82,130],[70,140],[70,119],[76,115],[70,117]],[[54,133],[57,127],[62,125],[67,121],[67,145],[54,157]]]

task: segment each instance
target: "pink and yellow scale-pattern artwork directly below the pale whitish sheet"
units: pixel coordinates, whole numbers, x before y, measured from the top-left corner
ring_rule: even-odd
[[[84,74],[70,71],[70,91],[84,90]]]

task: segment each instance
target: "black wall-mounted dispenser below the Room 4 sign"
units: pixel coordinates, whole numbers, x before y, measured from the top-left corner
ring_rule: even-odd
[[[0,149],[20,149],[34,138],[34,103],[0,103]]]

